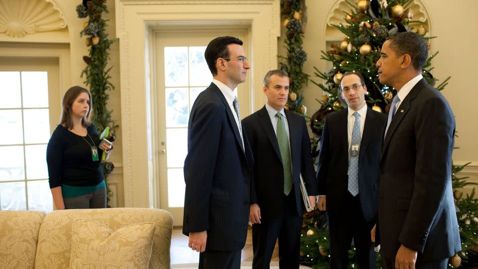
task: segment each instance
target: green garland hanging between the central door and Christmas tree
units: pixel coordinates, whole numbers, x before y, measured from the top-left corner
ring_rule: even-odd
[[[307,85],[309,75],[304,73],[303,66],[307,60],[307,53],[302,49],[302,38],[304,37],[304,28],[307,16],[305,14],[305,0],[281,0],[281,14],[284,18],[285,48],[287,57],[279,56],[281,62],[280,69],[289,74],[289,100],[286,108],[298,114],[305,115],[307,108],[304,106],[304,96],[302,88]]]

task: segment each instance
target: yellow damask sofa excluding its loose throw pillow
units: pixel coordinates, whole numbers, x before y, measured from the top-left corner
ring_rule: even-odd
[[[25,212],[23,215],[22,213]],[[37,221],[38,226],[36,229],[33,226],[35,223],[34,218],[38,214],[42,217]],[[36,214],[36,215],[35,215]],[[4,226],[10,225],[9,221],[11,215],[15,215],[20,218],[22,225],[30,225],[28,236],[23,237],[19,229],[16,229],[17,225],[13,225],[15,228],[13,232],[5,230]],[[116,231],[121,227],[152,222],[155,224],[154,242],[149,260],[150,269],[169,269],[170,268],[170,247],[171,247],[171,233],[173,227],[173,220],[171,214],[161,209],[148,209],[148,208],[105,208],[105,209],[70,209],[70,210],[58,210],[48,213],[43,219],[44,213],[34,211],[0,211],[0,268],[40,268],[40,269],[63,269],[69,268],[70,253],[71,253],[71,234],[72,225],[78,219],[92,220],[97,223],[101,223]],[[42,220],[43,219],[43,220]],[[41,226],[40,226],[41,223]],[[20,226],[22,227],[22,226]],[[38,233],[39,228],[39,233]],[[5,228],[9,229],[9,228]],[[9,232],[8,232],[9,231]],[[31,241],[33,249],[30,251],[30,257],[26,258],[26,251],[17,251],[16,256],[10,256],[9,254],[3,254],[3,246],[1,240],[9,234],[18,234],[21,239],[14,241],[14,245],[17,248],[23,248],[20,244],[24,240]],[[36,233],[36,234],[35,234]],[[36,237],[35,235],[38,235]],[[38,244],[36,244],[36,238],[38,238]],[[10,242],[10,240],[8,240]],[[14,252],[14,251],[13,251]],[[17,258],[18,255],[25,258]],[[4,259],[4,260],[2,260]],[[16,266],[17,264],[18,266]],[[20,264],[31,265],[22,267]],[[3,266],[3,265],[13,266]]]

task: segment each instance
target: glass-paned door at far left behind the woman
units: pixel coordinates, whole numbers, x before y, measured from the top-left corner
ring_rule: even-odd
[[[58,59],[0,57],[0,210],[53,210],[46,145],[59,117]],[[55,88],[57,95],[50,94]],[[55,123],[56,124],[56,123]]]

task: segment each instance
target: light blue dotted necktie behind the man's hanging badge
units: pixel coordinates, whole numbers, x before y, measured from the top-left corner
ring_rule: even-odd
[[[359,194],[359,150],[353,156],[352,147],[360,145],[360,120],[359,113],[355,112],[354,129],[352,130],[352,141],[350,143],[350,157],[349,157],[349,192],[352,196]]]

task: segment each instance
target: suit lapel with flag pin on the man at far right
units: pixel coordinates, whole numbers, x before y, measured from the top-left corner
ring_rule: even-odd
[[[390,122],[390,126],[388,126],[387,134],[383,138],[383,145],[382,145],[382,152],[380,154],[380,159],[382,159],[383,154],[385,153],[388,147],[388,144],[390,143],[390,140],[392,139],[393,134],[395,133],[395,130],[400,125],[400,122],[403,120],[405,115],[407,115],[408,111],[410,111],[411,101],[415,99],[417,94],[426,84],[427,84],[426,80],[421,79],[407,94],[407,96],[405,97],[405,100],[403,100],[402,103],[400,103],[400,106],[397,108],[397,111],[395,112],[395,115],[393,116],[392,121]]]

